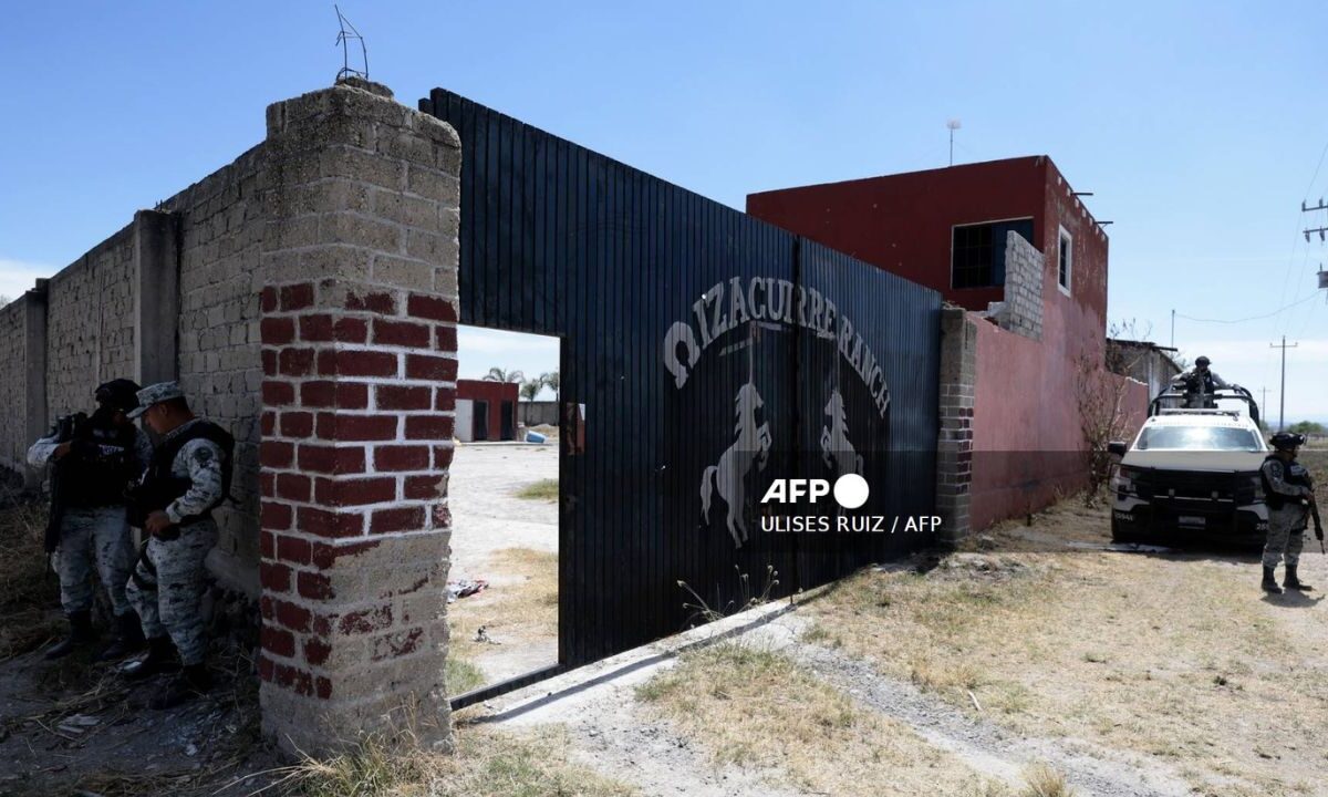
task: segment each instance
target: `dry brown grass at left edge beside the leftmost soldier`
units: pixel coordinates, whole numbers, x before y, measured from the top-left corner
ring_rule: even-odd
[[[42,549],[46,509],[0,487],[0,662],[58,631],[60,586]]]

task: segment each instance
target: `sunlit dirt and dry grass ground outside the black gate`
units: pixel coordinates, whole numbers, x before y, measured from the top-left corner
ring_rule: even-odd
[[[1328,587],[1312,535],[1301,575]],[[563,728],[645,794],[1328,794],[1321,591],[1258,582],[1252,551],[1117,549],[1073,498],[459,732]]]

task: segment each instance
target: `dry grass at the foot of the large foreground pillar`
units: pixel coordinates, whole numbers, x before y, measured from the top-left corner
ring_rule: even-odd
[[[458,728],[456,754],[409,737],[365,739],[355,751],[282,770],[282,793],[300,797],[610,797],[635,792],[571,764],[566,735]]]

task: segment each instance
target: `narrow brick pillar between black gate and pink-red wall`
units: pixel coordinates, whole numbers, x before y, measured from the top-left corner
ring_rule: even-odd
[[[971,533],[976,363],[977,325],[964,308],[946,307],[940,312],[940,436],[936,441],[936,514],[942,517],[938,542],[943,546],[954,546]]]

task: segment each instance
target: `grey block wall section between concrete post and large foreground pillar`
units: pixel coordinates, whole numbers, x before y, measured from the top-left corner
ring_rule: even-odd
[[[256,594],[259,270],[266,232],[262,147],[166,201],[179,219],[179,383],[195,412],[235,436],[231,495],[214,511],[220,527],[216,576]]]

